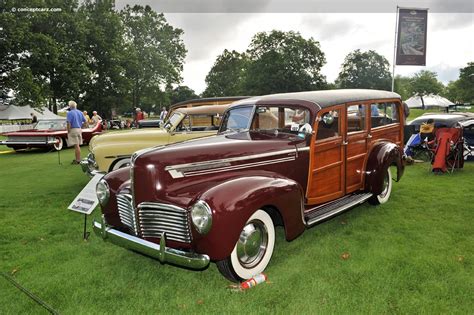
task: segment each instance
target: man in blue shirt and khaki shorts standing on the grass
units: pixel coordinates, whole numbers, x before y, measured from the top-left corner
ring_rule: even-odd
[[[67,113],[67,144],[69,147],[74,146],[75,159],[72,164],[81,162],[81,144],[82,144],[82,127],[87,121],[84,115],[77,110],[77,103],[69,101],[69,112]]]

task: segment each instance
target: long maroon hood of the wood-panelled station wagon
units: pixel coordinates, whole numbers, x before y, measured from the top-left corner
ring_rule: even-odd
[[[280,165],[276,163],[294,161],[297,140],[305,141],[242,132],[136,152],[132,157],[135,202],[166,200],[186,207],[211,183],[246,176],[250,168],[265,172]]]

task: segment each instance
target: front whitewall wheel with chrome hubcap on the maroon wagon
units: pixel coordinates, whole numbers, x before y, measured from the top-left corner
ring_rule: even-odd
[[[229,257],[217,262],[227,279],[239,282],[265,270],[275,246],[275,227],[268,213],[257,210],[247,221]]]

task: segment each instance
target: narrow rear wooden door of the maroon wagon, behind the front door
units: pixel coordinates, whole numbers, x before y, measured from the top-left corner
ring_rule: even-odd
[[[345,111],[346,147],[345,184],[346,194],[363,188],[363,178],[367,156],[370,106],[368,104],[348,104]]]

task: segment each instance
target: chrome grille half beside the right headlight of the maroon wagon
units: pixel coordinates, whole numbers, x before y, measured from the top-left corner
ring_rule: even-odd
[[[138,205],[138,217],[143,237],[159,238],[165,232],[167,240],[191,243],[185,209],[163,203],[143,202]]]

